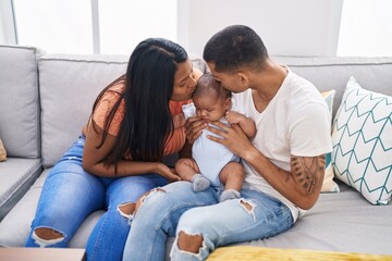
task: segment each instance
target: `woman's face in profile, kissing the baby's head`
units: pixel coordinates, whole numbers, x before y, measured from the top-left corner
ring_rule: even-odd
[[[171,100],[183,101],[191,99],[192,92],[196,87],[196,82],[200,76],[201,72],[197,69],[194,70],[188,59],[179,63],[174,74],[174,88]]]

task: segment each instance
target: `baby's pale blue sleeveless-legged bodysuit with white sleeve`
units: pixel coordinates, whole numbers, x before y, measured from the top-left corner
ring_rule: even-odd
[[[232,105],[231,111],[241,112]],[[194,103],[183,105],[185,119],[196,115]],[[223,116],[219,120],[221,123],[230,126],[228,120]],[[211,127],[217,126],[209,124]],[[220,137],[207,128],[203,129],[201,135],[192,146],[192,158],[196,161],[200,173],[208,178],[213,187],[220,187],[219,173],[229,162],[240,162],[240,158],[231,152],[226,147],[207,138],[207,135]]]

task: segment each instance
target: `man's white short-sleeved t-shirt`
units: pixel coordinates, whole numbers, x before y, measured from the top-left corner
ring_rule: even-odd
[[[273,164],[291,171],[291,154],[315,157],[332,151],[331,116],[317,88],[289,70],[268,107],[256,110],[252,89],[233,96],[235,104],[256,123],[253,145]],[[254,187],[286,204],[294,221],[304,211],[278,192],[244,161],[245,186]]]

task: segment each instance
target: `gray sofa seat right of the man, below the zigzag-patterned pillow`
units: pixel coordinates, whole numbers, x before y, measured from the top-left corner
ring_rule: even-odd
[[[336,182],[338,194],[321,194],[318,201],[287,232],[236,244],[271,248],[392,254],[392,203],[372,206],[354,188]]]

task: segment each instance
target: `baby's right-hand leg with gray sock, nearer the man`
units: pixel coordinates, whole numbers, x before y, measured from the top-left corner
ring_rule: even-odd
[[[229,162],[219,173],[219,179],[224,184],[224,191],[220,197],[220,202],[228,199],[240,198],[241,187],[244,182],[244,166],[238,162]]]

